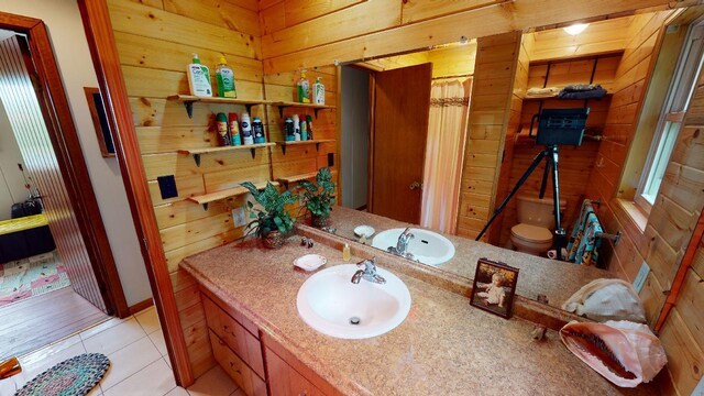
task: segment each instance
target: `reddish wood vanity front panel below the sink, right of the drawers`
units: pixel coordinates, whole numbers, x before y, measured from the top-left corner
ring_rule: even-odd
[[[324,396],[310,381],[306,380],[276,353],[266,349],[268,386],[272,396]]]

